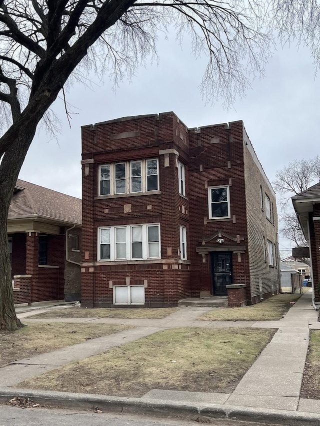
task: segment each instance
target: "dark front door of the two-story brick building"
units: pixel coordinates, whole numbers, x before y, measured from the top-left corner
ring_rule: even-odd
[[[230,252],[211,252],[213,295],[226,296],[226,285],[232,284],[232,263]]]

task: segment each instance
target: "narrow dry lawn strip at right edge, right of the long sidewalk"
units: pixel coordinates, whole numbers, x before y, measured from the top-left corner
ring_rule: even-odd
[[[320,330],[310,332],[300,396],[320,400]]]

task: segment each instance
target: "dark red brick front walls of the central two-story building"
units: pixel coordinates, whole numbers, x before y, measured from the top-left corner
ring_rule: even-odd
[[[242,121],[188,130],[171,112],[82,127],[82,304],[112,304],[108,282],[125,280],[128,276],[148,280],[147,306],[172,305],[182,297],[198,297],[200,291],[212,292],[210,256],[205,255],[203,263],[196,249],[202,246],[203,238],[208,240],[205,243],[208,251],[220,248],[216,237],[210,240],[218,232],[230,237],[224,237],[225,251],[231,246],[244,251],[240,262],[237,254],[232,254],[232,284],[246,284],[246,297],[252,303],[250,285],[254,268],[249,259],[247,212],[255,207],[246,206],[245,162],[248,167],[251,165],[243,137]],[[159,155],[162,150],[171,150],[168,167],[164,155]],[[99,164],[147,158],[159,160],[159,193],[97,197]],[[185,166],[186,197],[178,194],[176,160]],[[262,175],[259,178],[259,181],[264,179]],[[207,186],[218,185],[229,186],[231,218],[209,220]],[[124,204],[131,205],[129,213],[124,213]],[[147,209],[150,205],[151,209]],[[275,201],[273,206],[275,209]],[[159,263],[97,262],[98,227],[140,223],[160,223]],[[187,229],[188,264],[179,259],[180,225]],[[240,240],[234,241],[236,236]],[[182,269],[163,269],[166,259]],[[254,290],[255,287],[252,294]]]

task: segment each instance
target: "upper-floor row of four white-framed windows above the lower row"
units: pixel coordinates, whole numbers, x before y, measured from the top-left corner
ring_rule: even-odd
[[[158,160],[138,160],[99,166],[99,195],[130,194],[159,189]]]

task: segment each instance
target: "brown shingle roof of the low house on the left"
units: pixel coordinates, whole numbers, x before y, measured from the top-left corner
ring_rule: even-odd
[[[8,220],[40,216],[52,221],[80,225],[79,198],[18,179],[9,207]]]

